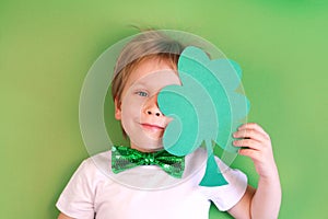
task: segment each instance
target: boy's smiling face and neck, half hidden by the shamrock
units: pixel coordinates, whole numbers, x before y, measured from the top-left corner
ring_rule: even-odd
[[[120,104],[115,101],[115,117],[130,138],[131,148],[153,151],[163,148],[162,136],[169,123],[157,106],[157,94],[169,84],[180,84],[166,61],[141,62],[125,84]]]

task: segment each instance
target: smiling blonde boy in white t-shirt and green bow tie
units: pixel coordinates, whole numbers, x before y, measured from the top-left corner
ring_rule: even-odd
[[[177,61],[181,50],[179,43],[155,31],[142,33],[124,48],[117,60],[112,93],[115,117],[130,139],[130,149],[113,147],[112,151],[84,161],[57,203],[59,219],[208,218],[210,200],[235,218],[278,217],[279,174],[270,138],[257,124],[244,124],[233,135],[238,139],[235,147],[246,147],[239,154],[255,163],[260,176],[257,189],[247,185],[244,173],[231,169],[223,172],[227,185],[199,186],[204,172],[202,149],[176,158],[178,162],[164,164],[164,169],[144,165],[142,161],[140,166],[117,171],[125,163],[115,161],[125,152],[145,155],[147,162],[153,154],[164,154],[162,136],[171,118],[159,110],[156,95],[166,85],[180,84]],[[95,160],[104,161],[105,168],[96,165]],[[220,159],[216,162],[224,168]],[[169,175],[167,172],[177,163],[184,172]]]

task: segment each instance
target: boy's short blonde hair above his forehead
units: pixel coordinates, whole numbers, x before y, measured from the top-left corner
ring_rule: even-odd
[[[115,66],[112,81],[113,99],[121,101],[121,93],[131,72],[143,61],[157,59],[167,61],[177,69],[183,45],[160,31],[144,31],[130,41],[121,50]]]

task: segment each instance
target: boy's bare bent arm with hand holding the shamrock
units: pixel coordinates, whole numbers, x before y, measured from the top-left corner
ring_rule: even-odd
[[[278,218],[281,186],[269,135],[257,124],[244,124],[234,134],[239,154],[249,157],[259,174],[257,189],[248,186],[243,198],[229,210],[235,218]]]

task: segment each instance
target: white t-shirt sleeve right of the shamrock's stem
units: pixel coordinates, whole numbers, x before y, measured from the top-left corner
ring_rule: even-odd
[[[223,176],[227,185],[206,187],[200,186],[203,195],[219,208],[226,211],[235,206],[244,196],[247,188],[247,176],[239,170],[226,166],[219,158],[215,158],[220,170],[224,170]]]

